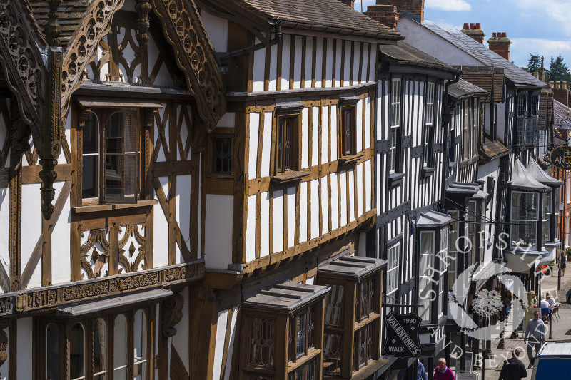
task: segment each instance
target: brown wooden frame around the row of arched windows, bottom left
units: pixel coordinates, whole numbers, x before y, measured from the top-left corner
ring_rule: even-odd
[[[69,336],[72,327],[75,324],[81,324],[84,329],[84,377],[80,379],[93,380],[95,375],[95,364],[94,364],[94,328],[93,324],[98,319],[102,319],[106,324],[106,374],[109,376],[111,372],[114,371],[114,323],[116,317],[122,314],[127,322],[128,331],[126,332],[127,342],[126,342],[126,354],[127,354],[127,378],[133,379],[133,374],[135,372],[135,358],[134,358],[134,344],[135,344],[135,314],[138,310],[142,310],[145,315],[145,327],[146,327],[146,377],[145,379],[154,378],[154,357],[156,349],[156,339],[153,334],[153,327],[156,324],[156,305],[140,305],[133,307],[132,309],[122,309],[109,312],[106,314],[91,314],[81,317],[34,317],[34,344],[36,347],[36,352],[45,353],[47,349],[46,342],[46,329],[49,324],[55,324],[58,328],[58,368],[59,377],[62,374],[69,373],[71,369],[71,349],[66,349],[66,345],[71,344],[69,341]],[[66,339],[68,337],[68,339]],[[46,357],[45,355],[38,355],[38,360],[34,361],[34,373],[37,379],[47,379],[46,374]],[[101,374],[101,371],[98,372]],[[71,374],[70,374],[71,376]],[[70,379],[72,379],[70,377]],[[56,379],[53,379],[56,380]]]

